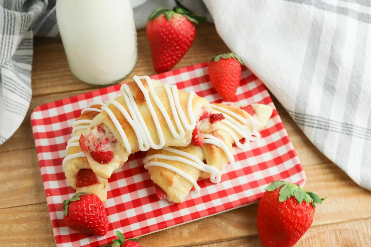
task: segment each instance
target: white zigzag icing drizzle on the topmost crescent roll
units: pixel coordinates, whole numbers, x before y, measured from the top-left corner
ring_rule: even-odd
[[[114,99],[109,100],[109,103],[111,103],[119,111],[121,111],[121,113],[124,115],[125,119],[127,119],[128,123],[131,125],[131,127],[133,128],[133,130],[134,130],[134,132],[137,136],[138,143],[139,143],[139,149],[141,151],[147,151],[150,148],[161,149],[162,147],[165,146],[164,133],[162,132],[161,125],[160,125],[160,122],[158,120],[158,116],[157,116],[157,114],[154,110],[154,107],[152,105],[150,96],[152,96],[152,99],[155,102],[156,106],[158,107],[158,109],[160,109],[161,114],[162,114],[162,116],[164,116],[165,121],[168,124],[169,129],[170,129],[170,131],[173,134],[173,137],[175,139],[181,139],[185,136],[184,128],[186,130],[190,131],[190,130],[193,130],[196,127],[196,119],[195,119],[194,113],[192,111],[192,99],[193,99],[193,95],[194,95],[193,92],[191,92],[189,94],[189,98],[188,98],[188,102],[187,102],[187,108],[188,108],[187,113],[188,113],[188,118],[190,119],[190,123],[188,123],[187,119],[185,118],[184,111],[183,111],[183,109],[181,108],[181,105],[180,105],[177,86],[175,86],[175,85],[169,86],[168,84],[164,85],[167,96],[168,96],[168,99],[169,99],[169,102],[170,102],[171,113],[173,114],[173,117],[174,117],[174,120],[175,120],[175,125],[177,126],[177,129],[178,129],[178,132],[177,132],[177,130],[175,129],[174,124],[172,123],[171,118],[168,115],[164,105],[162,104],[161,100],[158,98],[158,96],[155,92],[155,89],[153,87],[151,78],[149,76],[141,76],[141,77],[134,76],[133,78],[134,78],[135,83],[137,83],[139,89],[142,91],[142,93],[144,95],[145,103],[147,104],[148,110],[150,110],[152,119],[155,123],[156,129],[157,129],[157,132],[158,132],[158,137],[160,139],[160,143],[158,143],[158,144],[154,143],[154,141],[151,137],[150,131],[148,130],[147,125],[145,124],[145,121],[142,117],[142,114],[140,113],[140,111],[138,109],[138,106],[137,106],[137,103],[136,103],[136,101],[133,97],[133,94],[132,94],[132,92],[131,92],[131,90],[130,90],[130,88],[127,84],[123,84],[121,86],[121,93],[122,93],[122,96],[125,99],[125,103],[128,107],[128,110],[129,110],[130,114],[116,100],[114,100]],[[145,89],[144,85],[140,81],[141,79],[145,79],[147,81],[149,92]],[[172,92],[171,92],[170,88],[172,89]],[[125,149],[126,149],[127,153],[131,154],[132,150],[131,150],[129,140],[128,140],[126,134],[125,134],[124,129],[122,128],[121,124],[117,120],[116,116],[106,106],[103,106],[102,110],[106,111],[108,116],[111,118],[112,122],[114,123],[116,129],[118,130],[118,132],[121,136],[121,139],[124,143],[124,146],[125,146]],[[179,115],[180,119],[179,119],[178,115]],[[182,123],[183,123],[184,128],[182,126]]]

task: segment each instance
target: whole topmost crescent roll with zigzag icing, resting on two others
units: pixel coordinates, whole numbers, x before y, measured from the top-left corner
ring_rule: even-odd
[[[148,76],[134,76],[121,93],[102,107],[79,141],[91,168],[103,178],[111,177],[131,153],[200,146],[203,134],[221,126],[222,114],[214,114],[206,99]]]

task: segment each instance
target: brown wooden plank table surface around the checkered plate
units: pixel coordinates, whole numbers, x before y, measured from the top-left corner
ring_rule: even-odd
[[[229,49],[212,24],[197,27],[193,46],[175,66],[210,59]],[[145,30],[138,31],[138,63],[130,78],[152,75]],[[127,79],[129,80],[129,79]],[[0,246],[55,246],[32,136],[30,113],[36,106],[94,88],[70,73],[58,39],[36,39],[32,68],[32,101],[16,133],[0,146]],[[316,209],[312,227],[296,246],[371,246],[371,192],[355,184],[304,136],[274,100],[306,172],[305,189],[328,197]],[[258,204],[242,207],[140,238],[144,247],[260,246],[256,229]]]

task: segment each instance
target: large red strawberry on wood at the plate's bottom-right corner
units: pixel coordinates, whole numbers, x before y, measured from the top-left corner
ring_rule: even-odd
[[[257,212],[257,231],[264,247],[291,247],[313,222],[315,203],[324,199],[284,181],[271,183]]]

